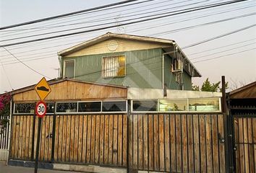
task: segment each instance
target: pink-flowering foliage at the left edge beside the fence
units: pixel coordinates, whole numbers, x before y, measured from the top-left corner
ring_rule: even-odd
[[[0,96],[0,134],[7,128],[9,123],[10,98],[9,94],[2,94]]]

